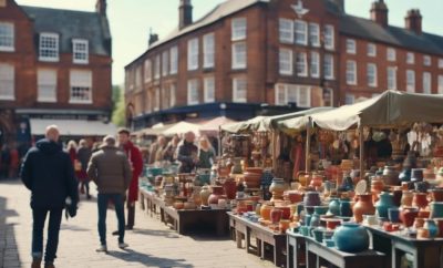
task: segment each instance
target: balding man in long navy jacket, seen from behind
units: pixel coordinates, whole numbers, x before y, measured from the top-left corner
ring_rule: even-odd
[[[59,130],[55,125],[47,127],[45,138],[39,141],[24,157],[21,179],[31,190],[33,216],[32,268],[41,265],[43,256],[43,227],[49,216],[48,243],[44,267],[51,268],[56,258],[60,224],[66,197],[76,208],[79,202],[78,183],[70,156],[59,144]]]

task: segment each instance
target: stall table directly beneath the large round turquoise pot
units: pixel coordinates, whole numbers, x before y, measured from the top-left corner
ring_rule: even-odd
[[[311,237],[302,236],[292,231],[287,231],[288,245],[297,248],[300,241],[306,244],[306,267],[317,268],[323,265],[333,265],[339,268],[382,268],[384,267],[384,257],[382,252],[375,250],[365,250],[358,254],[349,254],[330,248],[326,245],[316,241]],[[288,249],[288,251],[290,251]],[[297,251],[297,250],[292,250]],[[299,267],[297,258],[288,256],[288,266]]]

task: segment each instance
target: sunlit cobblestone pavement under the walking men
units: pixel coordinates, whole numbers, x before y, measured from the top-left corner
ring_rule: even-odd
[[[107,213],[109,254],[97,254],[96,200],[82,199],[78,216],[63,219],[55,266],[86,267],[275,267],[269,261],[237,249],[234,241],[207,236],[179,236],[136,212],[136,226],[127,231],[130,249],[121,250],[111,231],[115,214]],[[0,181],[0,267],[31,267],[31,209],[29,192],[19,179]]]

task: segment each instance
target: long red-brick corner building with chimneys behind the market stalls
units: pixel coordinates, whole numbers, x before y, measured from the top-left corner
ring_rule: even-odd
[[[203,114],[220,103],[312,107],[387,89],[443,93],[443,37],[422,32],[419,10],[398,28],[383,0],[368,8],[363,19],[346,13],[344,0],[227,0],[194,22],[190,0],[181,0],[178,28],[152,34],[125,68],[127,116],[148,126],[183,106]]]

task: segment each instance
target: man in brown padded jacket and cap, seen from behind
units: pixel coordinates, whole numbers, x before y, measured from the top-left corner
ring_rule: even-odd
[[[97,252],[107,252],[106,246],[106,210],[111,200],[115,206],[119,220],[119,247],[128,247],[124,243],[125,219],[123,196],[132,177],[126,155],[115,146],[113,136],[105,136],[101,150],[94,153],[87,165],[87,176],[97,185],[99,235],[101,246]]]

